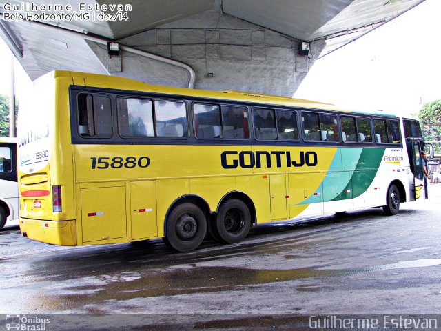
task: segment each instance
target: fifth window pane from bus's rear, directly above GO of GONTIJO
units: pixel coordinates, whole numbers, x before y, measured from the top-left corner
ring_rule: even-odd
[[[240,106],[222,106],[225,139],[248,139],[248,110]]]

